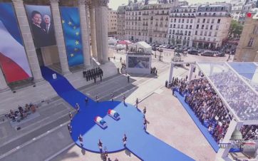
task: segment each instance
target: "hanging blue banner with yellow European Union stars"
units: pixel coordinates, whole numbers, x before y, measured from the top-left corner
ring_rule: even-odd
[[[68,65],[76,66],[83,63],[80,15],[76,7],[62,6],[60,10]]]

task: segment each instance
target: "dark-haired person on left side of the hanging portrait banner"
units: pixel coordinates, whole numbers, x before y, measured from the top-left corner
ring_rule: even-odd
[[[45,46],[46,43],[46,30],[41,27],[41,13],[32,11],[31,13],[31,30],[33,33],[33,40],[36,48]]]

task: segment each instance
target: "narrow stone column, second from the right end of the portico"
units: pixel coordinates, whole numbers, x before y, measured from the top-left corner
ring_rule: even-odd
[[[91,49],[92,56],[98,58],[97,53],[97,43],[96,43],[96,21],[95,21],[95,11],[93,2],[90,4],[90,25],[91,25]]]

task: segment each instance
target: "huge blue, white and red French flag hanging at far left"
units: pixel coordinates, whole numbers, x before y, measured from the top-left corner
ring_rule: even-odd
[[[31,77],[31,69],[11,3],[0,3],[0,66],[8,83]]]

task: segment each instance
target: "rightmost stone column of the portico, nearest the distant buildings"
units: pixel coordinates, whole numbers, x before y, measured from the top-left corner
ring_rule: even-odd
[[[108,0],[98,0],[95,9],[98,61],[108,61]],[[99,60],[100,59],[100,60]]]

